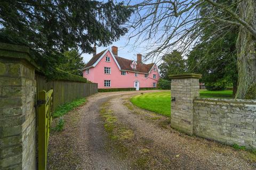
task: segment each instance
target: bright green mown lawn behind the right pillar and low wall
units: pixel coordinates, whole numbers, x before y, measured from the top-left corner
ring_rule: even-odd
[[[207,91],[200,90],[202,98],[232,98],[231,90]],[[150,92],[143,95],[137,95],[131,98],[131,102],[143,109],[153,111],[164,116],[171,115],[171,92]]]

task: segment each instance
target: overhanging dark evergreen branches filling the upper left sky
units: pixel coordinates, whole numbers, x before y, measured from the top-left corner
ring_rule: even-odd
[[[0,1],[0,41],[30,47],[46,75],[54,74],[63,52],[92,53],[123,36],[132,11],[113,1]]]

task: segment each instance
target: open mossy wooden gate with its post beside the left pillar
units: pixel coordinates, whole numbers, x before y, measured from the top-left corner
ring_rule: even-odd
[[[38,169],[45,170],[47,163],[47,148],[52,122],[52,94],[42,90],[38,94]]]

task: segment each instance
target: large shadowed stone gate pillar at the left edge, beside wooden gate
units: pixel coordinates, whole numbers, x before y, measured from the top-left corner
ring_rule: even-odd
[[[0,169],[36,169],[35,66],[29,49],[0,44]]]

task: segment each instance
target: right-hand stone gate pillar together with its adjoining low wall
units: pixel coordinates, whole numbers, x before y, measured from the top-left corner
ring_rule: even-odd
[[[201,74],[170,78],[172,128],[228,145],[256,148],[256,100],[199,98]]]

